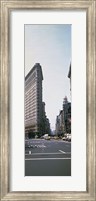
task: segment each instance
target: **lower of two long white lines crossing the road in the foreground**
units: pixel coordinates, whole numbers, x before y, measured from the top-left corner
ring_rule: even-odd
[[[71,158],[26,158],[25,161],[36,160],[70,160]]]

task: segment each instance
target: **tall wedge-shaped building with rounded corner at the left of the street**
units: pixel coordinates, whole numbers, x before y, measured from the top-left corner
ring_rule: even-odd
[[[25,77],[25,133],[40,133],[42,127],[42,68],[39,63]]]

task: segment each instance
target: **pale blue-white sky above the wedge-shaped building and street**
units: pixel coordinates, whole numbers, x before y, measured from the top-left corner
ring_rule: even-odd
[[[71,25],[25,25],[25,76],[35,63],[43,71],[43,101],[51,129],[62,110],[63,99],[71,101],[68,71],[71,62]]]

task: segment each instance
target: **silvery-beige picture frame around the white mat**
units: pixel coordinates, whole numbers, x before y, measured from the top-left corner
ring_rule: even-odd
[[[10,13],[19,9],[85,10],[87,18],[86,192],[10,192]],[[96,1],[0,0],[0,200],[96,200]]]

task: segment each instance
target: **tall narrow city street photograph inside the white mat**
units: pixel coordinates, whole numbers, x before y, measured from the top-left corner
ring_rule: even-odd
[[[24,31],[25,176],[71,176],[71,25]]]

